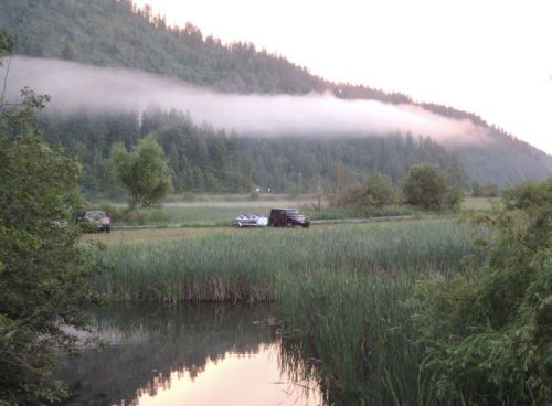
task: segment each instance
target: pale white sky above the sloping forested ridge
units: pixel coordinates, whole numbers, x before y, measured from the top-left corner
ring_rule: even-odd
[[[136,0],[327,79],[475,113],[552,154],[550,0]]]

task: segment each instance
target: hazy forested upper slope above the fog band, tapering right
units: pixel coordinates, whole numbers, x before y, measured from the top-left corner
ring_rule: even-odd
[[[326,83],[253,44],[224,46],[188,24],[167,26],[129,0],[2,0],[0,26],[18,53],[124,66],[223,92],[308,93]]]

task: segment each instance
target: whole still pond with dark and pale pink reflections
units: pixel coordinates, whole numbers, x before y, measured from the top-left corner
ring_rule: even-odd
[[[266,307],[118,307],[94,313],[102,349],[63,362],[65,405],[317,406],[312,380],[286,366]]]

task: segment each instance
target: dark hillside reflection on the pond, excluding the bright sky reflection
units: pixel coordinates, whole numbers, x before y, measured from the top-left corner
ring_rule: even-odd
[[[191,304],[124,307],[95,313],[103,352],[86,350],[57,371],[74,396],[66,405],[132,405],[140,394],[171,385],[172,372],[192,380],[226,352],[257,354],[273,342],[266,307]]]

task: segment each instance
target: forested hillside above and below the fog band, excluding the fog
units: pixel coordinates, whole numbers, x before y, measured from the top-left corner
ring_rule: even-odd
[[[17,35],[20,54],[142,70],[219,92],[331,92],[336,97],[348,99],[415,104],[402,94],[330,83],[284,57],[257,51],[253,44],[222,44],[217,39],[205,38],[192,24],[183,29],[169,26],[162,18],[152,15],[150,9],[139,10],[130,0],[2,0],[0,28]],[[453,162],[450,157],[455,156],[469,180],[485,183],[513,184],[552,173],[550,156],[488,126],[482,118],[447,106],[417,105],[445,117],[469,119],[487,128],[495,142],[444,146],[448,151],[417,133],[413,138],[390,135],[389,139],[279,142],[244,139],[240,135],[230,137],[209,126],[197,126],[189,117],[183,124],[157,128],[157,132],[170,157],[174,183],[180,191],[243,190],[248,188],[248,182],[272,184],[275,190],[305,190],[315,171],[312,162],[317,162],[317,175],[320,172],[330,177],[328,162],[331,160],[331,165],[342,163],[359,178],[376,169],[395,181],[402,179],[410,163],[445,164]],[[123,139],[128,146],[136,143],[151,129],[147,119],[140,122],[138,113],[129,113],[126,119],[83,113],[44,116],[42,126],[47,139],[78,153],[85,165],[85,188],[96,191],[110,182],[106,165],[112,141]],[[201,153],[198,156],[194,151]],[[216,157],[222,156],[224,160],[215,162]],[[108,186],[105,192],[114,193],[114,188]]]

